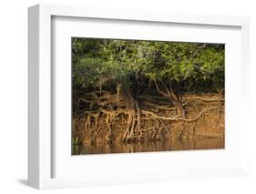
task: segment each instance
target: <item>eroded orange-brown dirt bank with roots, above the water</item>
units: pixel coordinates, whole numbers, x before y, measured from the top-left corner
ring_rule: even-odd
[[[224,98],[220,94],[184,96],[180,100],[184,117],[162,97],[140,96],[134,106],[126,105],[124,97],[104,92],[88,94],[87,103],[91,103],[90,99],[98,100],[94,101],[94,107],[97,103],[100,106],[73,119],[73,137],[87,147],[169,139],[224,138]]]

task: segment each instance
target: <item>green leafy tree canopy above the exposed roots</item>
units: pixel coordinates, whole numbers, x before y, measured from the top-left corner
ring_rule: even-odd
[[[224,87],[224,45],[73,38],[73,87],[131,86],[138,77]]]

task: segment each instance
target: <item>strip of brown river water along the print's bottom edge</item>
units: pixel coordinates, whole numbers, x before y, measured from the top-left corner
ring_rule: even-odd
[[[225,148],[224,138],[170,139],[139,143],[74,146],[73,155]]]

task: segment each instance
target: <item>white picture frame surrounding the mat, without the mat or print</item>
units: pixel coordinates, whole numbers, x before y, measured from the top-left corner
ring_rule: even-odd
[[[129,182],[150,182],[162,181],[169,179],[195,179],[195,178],[211,178],[211,177],[230,177],[246,175],[246,147],[241,141],[241,153],[236,157],[241,158],[241,162],[234,167],[227,168],[225,166],[219,168],[198,168],[191,170],[182,170],[177,167],[177,170],[163,171],[159,168],[151,169],[149,173],[138,172],[135,175],[121,178],[120,174],[113,174],[109,179],[106,174],[96,175],[93,179],[80,178],[73,176],[72,178],[53,178],[53,168],[55,144],[52,133],[52,25],[53,17],[72,17],[72,18],[93,18],[93,19],[108,19],[129,21],[129,23],[141,22],[154,24],[182,24],[189,26],[207,26],[208,28],[217,27],[235,27],[241,30],[241,62],[238,67],[242,71],[241,80],[238,83],[241,85],[241,95],[248,96],[249,77],[249,20],[246,17],[219,16],[219,15],[185,15],[171,14],[158,12],[140,12],[135,10],[111,10],[92,7],[76,7],[67,5],[35,5],[28,9],[28,51],[29,51],[29,122],[28,122],[28,183],[36,189],[54,189],[54,188],[69,188],[69,187],[84,187],[90,185],[104,184],[125,184]],[[239,99],[238,99],[239,100]],[[238,101],[237,101],[238,102]],[[246,103],[246,102],[245,102]],[[246,106],[240,107],[242,116],[246,115]],[[245,119],[241,120],[241,131],[246,133]],[[151,153],[152,156],[154,153]],[[158,154],[158,156],[167,156],[169,153]],[[139,156],[139,155],[137,155]],[[140,159],[146,159],[149,155],[140,155]],[[71,156],[70,156],[71,157]],[[107,159],[114,159],[115,155]],[[149,157],[150,158],[150,157]],[[149,159],[148,158],[148,159]],[[101,157],[102,159],[102,157]],[[123,160],[131,158],[123,157]],[[134,159],[134,158],[133,158]],[[231,158],[232,159],[232,158]],[[146,161],[146,160],[145,160]],[[94,160],[92,161],[92,163]],[[156,160],[156,162],[159,162]],[[66,163],[64,163],[66,164]],[[67,167],[68,168],[68,167]],[[113,169],[115,171],[115,169]],[[117,169],[116,169],[117,170]]]

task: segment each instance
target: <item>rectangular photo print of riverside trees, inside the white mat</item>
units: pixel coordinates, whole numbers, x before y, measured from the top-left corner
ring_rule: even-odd
[[[72,154],[225,148],[225,45],[72,37]]]

